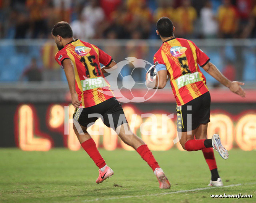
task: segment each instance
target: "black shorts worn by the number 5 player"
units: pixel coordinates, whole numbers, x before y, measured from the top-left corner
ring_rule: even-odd
[[[210,105],[211,96],[207,92],[184,105],[177,106],[177,131],[188,132],[198,128],[200,124],[209,123]]]

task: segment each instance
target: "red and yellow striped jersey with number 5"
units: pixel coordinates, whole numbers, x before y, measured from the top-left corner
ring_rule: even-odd
[[[177,105],[184,105],[208,90],[206,78],[198,67],[209,62],[209,57],[190,40],[171,38],[163,42],[154,55],[154,64],[164,64],[170,76]]]

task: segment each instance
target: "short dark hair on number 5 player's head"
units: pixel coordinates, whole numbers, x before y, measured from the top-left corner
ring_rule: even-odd
[[[161,37],[171,37],[173,35],[173,24],[170,18],[159,18],[156,27]]]

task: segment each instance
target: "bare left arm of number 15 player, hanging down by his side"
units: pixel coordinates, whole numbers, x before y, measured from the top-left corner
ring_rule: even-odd
[[[74,66],[70,59],[65,59],[62,65],[64,67],[66,79],[68,80],[72,104],[75,108],[78,108],[81,104],[81,101],[79,101],[78,96],[76,94],[76,79]]]

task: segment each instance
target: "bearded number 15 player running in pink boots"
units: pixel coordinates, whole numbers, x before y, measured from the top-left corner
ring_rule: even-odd
[[[111,126],[123,142],[133,147],[141,155],[154,171],[161,189],[170,188],[164,171],[159,167],[143,140],[133,133],[125,133],[125,129],[129,129],[129,126],[122,106],[111,94],[103,75],[106,73],[105,70],[115,66],[116,62],[97,46],[82,40],[75,40],[67,22],[61,21],[55,24],[52,29],[52,37],[60,50],[55,55],[55,59],[65,71],[72,104],[76,108],[73,117],[78,120],[83,132],[80,133],[73,125],[74,131],[83,149],[99,167],[99,177],[96,183],[103,182],[114,172],[106,165],[95,142],[86,131],[87,126],[92,125],[98,119],[89,117],[92,113],[98,113],[106,126]],[[105,66],[100,68],[100,63]],[[124,118],[123,122],[119,122],[120,117]]]

